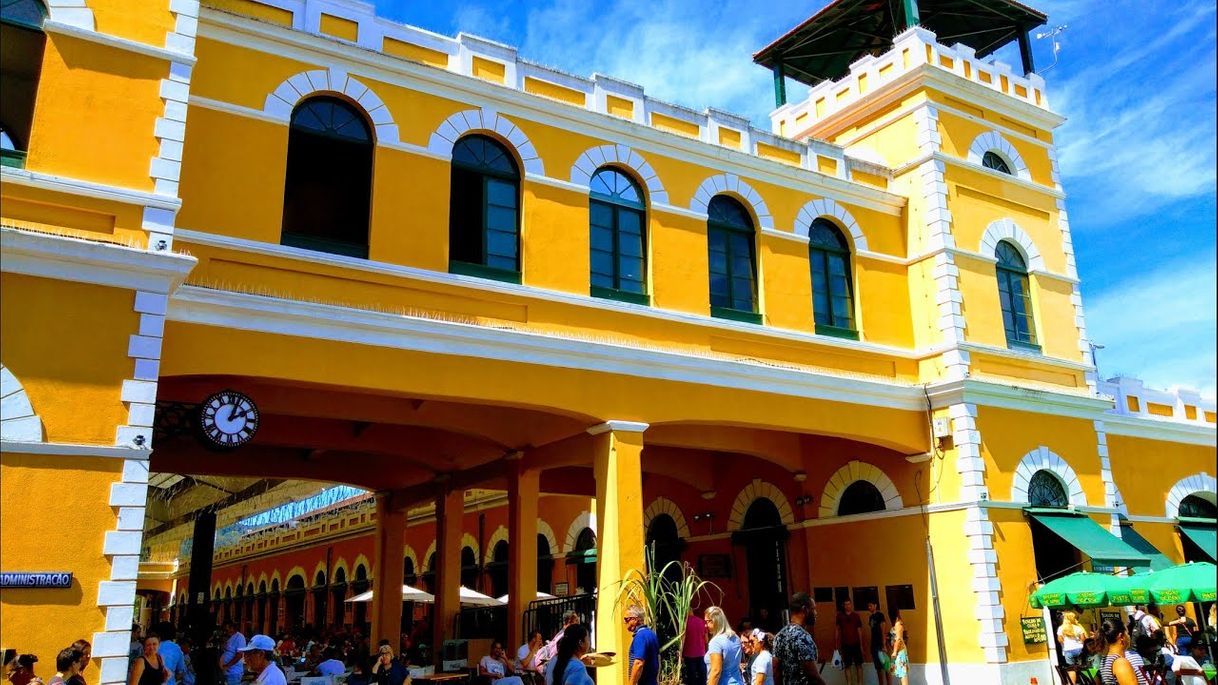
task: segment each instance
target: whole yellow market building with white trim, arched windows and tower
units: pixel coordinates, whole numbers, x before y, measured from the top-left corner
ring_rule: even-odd
[[[507,494],[513,597],[544,495],[594,501],[602,617],[667,512],[738,613],[829,589],[826,653],[833,589],[907,596],[929,683],[1051,681],[1037,488],[1195,556],[1214,402],[1096,378],[1035,74],[915,27],[761,130],[354,0],[13,6],[0,569],[73,577],[0,590],[5,646],[125,681],[150,472],[373,490],[384,587],[426,507],[437,616],[465,491]],[[247,444],[163,429],[225,390]]]

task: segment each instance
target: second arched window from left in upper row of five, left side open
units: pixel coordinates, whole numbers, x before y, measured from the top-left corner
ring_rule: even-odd
[[[448,271],[520,283],[520,172],[486,135],[453,146]]]

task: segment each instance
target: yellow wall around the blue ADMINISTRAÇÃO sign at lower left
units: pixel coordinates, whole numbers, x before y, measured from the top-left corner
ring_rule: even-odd
[[[51,403],[35,401],[34,411]],[[79,411],[85,405],[73,406]],[[116,525],[110,486],[122,468],[122,460],[104,457],[0,455],[0,566],[5,572],[73,573],[69,589],[0,590],[0,641],[38,655],[43,678],[55,673],[55,655],[65,645],[105,629],[97,584],[110,579],[110,559],[101,545],[105,531]],[[99,662],[93,663],[86,676],[95,678]]]

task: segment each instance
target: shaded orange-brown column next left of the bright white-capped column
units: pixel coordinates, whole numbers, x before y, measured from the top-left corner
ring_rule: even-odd
[[[519,460],[508,472],[508,652],[525,641],[524,618],[537,596],[538,472]]]

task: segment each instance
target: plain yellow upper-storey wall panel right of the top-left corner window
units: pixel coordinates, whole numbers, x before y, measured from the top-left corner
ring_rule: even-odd
[[[168,73],[155,57],[50,34],[26,168],[152,190],[152,129]]]

